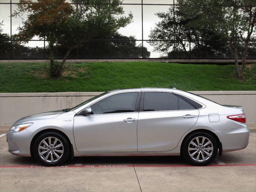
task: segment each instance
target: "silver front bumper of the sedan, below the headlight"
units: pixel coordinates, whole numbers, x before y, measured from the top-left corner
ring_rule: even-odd
[[[21,132],[10,130],[7,134],[8,152],[18,156],[30,157],[31,138],[32,132],[26,129]]]

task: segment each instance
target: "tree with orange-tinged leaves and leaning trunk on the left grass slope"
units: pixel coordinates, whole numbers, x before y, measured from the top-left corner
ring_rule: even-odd
[[[18,39],[28,42],[34,36],[49,42],[51,66],[56,44],[67,47],[67,52],[53,76],[60,76],[70,52],[86,44],[100,32],[112,34],[132,22],[132,14],[122,16],[121,0],[72,0],[72,8],[65,0],[20,0],[13,16],[28,12],[28,18],[19,28]]]

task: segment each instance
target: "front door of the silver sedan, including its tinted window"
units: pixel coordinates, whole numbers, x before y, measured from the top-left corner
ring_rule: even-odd
[[[92,115],[74,116],[76,150],[137,152],[139,95],[114,94],[92,104]]]

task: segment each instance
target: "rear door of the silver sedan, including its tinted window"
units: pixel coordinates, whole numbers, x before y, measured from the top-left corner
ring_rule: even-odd
[[[196,124],[198,115],[198,109],[171,92],[142,92],[138,151],[173,150],[182,135]]]

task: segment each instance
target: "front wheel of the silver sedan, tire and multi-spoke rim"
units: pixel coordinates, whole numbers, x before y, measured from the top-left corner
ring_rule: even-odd
[[[34,142],[34,157],[46,166],[59,166],[66,162],[70,145],[58,132],[44,132]]]

